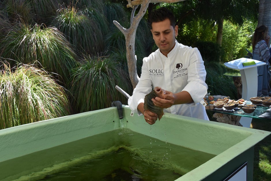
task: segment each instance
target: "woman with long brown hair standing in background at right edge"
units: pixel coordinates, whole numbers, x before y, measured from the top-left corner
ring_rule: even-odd
[[[257,96],[269,96],[268,85],[270,81],[271,74],[269,73],[269,62],[270,52],[269,52],[269,40],[268,27],[265,25],[259,25],[253,34],[252,40],[252,59],[265,62],[266,65],[258,66],[258,92]]]

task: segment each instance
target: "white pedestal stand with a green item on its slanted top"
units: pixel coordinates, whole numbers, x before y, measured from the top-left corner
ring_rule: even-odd
[[[250,66],[243,66],[242,63],[254,61],[256,64]],[[257,67],[266,65],[266,63],[254,59],[240,58],[233,61],[224,63],[225,66],[240,70],[241,79],[242,79],[242,99],[250,100],[251,97],[256,97],[258,92],[258,71]],[[242,116],[240,123],[243,127],[250,127],[251,117]]]

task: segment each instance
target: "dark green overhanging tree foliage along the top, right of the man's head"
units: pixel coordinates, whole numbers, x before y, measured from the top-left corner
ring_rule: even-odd
[[[257,20],[258,0],[189,0],[179,3],[162,4],[176,14],[177,25],[184,25],[198,20],[217,24],[217,43],[222,43],[223,22],[228,20],[234,25],[242,25],[245,20]],[[208,31],[207,31],[208,32]]]

